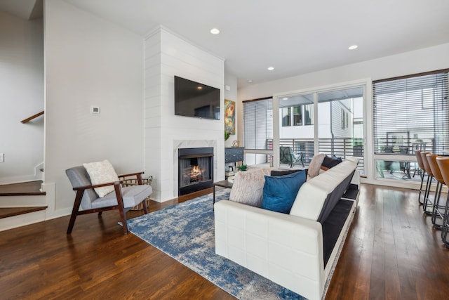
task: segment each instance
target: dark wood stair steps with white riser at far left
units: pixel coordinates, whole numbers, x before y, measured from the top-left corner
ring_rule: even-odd
[[[41,192],[41,183],[30,181],[0,185],[0,220],[36,211],[44,212],[47,208],[46,193]],[[21,218],[26,219],[26,216]]]

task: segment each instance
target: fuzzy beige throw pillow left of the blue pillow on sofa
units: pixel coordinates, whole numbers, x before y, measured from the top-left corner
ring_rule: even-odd
[[[255,168],[237,172],[234,176],[229,200],[248,204],[253,207],[262,205],[262,191],[265,175],[269,175],[273,168]]]

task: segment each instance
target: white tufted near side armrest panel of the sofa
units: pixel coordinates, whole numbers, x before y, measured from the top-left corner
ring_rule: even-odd
[[[325,275],[321,223],[221,200],[215,203],[215,253],[309,299]]]

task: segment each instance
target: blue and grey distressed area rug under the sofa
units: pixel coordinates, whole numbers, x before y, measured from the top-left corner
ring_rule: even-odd
[[[229,190],[215,193],[228,199]],[[212,194],[128,220],[132,233],[239,299],[305,299],[215,254]]]

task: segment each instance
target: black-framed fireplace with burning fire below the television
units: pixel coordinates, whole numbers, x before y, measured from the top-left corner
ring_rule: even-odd
[[[213,187],[213,147],[180,148],[178,157],[178,195]]]

